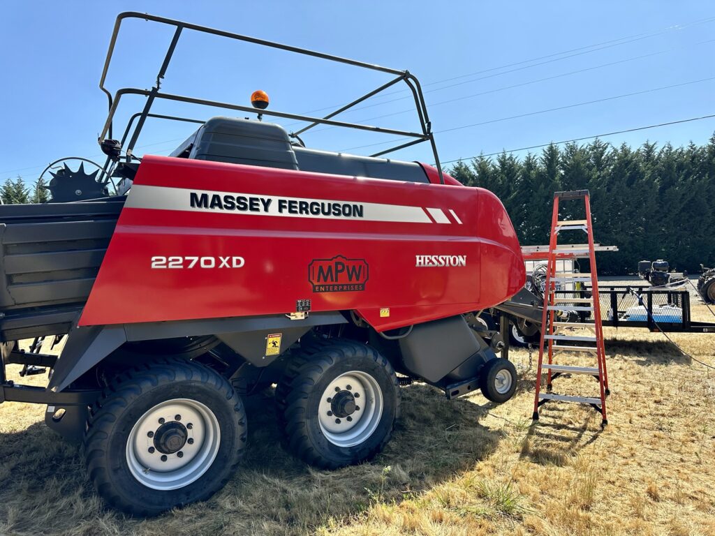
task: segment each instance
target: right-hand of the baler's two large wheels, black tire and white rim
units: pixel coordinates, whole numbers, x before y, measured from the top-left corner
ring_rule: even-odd
[[[341,341],[312,355],[290,384],[285,434],[301,460],[335,469],[370,460],[400,415],[395,371],[375,349]]]

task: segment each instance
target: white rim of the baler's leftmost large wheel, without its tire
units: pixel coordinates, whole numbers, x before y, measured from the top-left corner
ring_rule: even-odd
[[[161,441],[167,437],[170,446]],[[208,407],[186,398],[167,400],[144,413],[129,432],[127,465],[144,486],[177,490],[207,472],[220,442],[219,422]]]

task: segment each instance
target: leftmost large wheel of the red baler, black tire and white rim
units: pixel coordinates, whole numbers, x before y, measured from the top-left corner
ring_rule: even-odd
[[[156,418],[164,413],[166,419]],[[120,374],[93,408],[84,439],[87,473],[109,505],[133,515],[157,515],[220,490],[241,460],[246,430],[241,399],[224,377],[199,363],[160,359]],[[137,461],[147,456],[144,442],[152,453],[147,465]],[[137,470],[151,463],[157,470]],[[169,465],[177,471],[162,472]],[[176,476],[182,472],[188,475]],[[168,484],[160,482],[172,477]]]

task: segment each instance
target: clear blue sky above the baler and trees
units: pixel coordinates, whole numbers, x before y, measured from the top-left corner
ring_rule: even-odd
[[[120,11],[409,69],[424,86],[443,161],[715,114],[710,1],[12,2],[0,18],[0,181],[18,174],[34,181],[60,157],[101,159],[96,140],[107,99],[98,82]],[[170,38],[157,24],[127,24],[109,88],[149,89]],[[385,81],[386,75],[354,67],[187,32],[162,89],[241,104],[264,89],[271,109],[305,113],[343,104]],[[598,102],[581,105],[588,101]],[[342,119],[417,128],[404,91],[365,104]],[[142,106],[138,97],[127,99],[115,129]],[[546,111],[555,108],[561,109]],[[152,111],[197,119],[227,114],[164,102]],[[136,152],[168,154],[193,128],[149,121]],[[702,144],[714,131],[715,118],[605,139]],[[388,147],[373,144],[394,138],[318,127],[304,139],[308,147],[360,147],[351,151],[370,154]],[[426,144],[393,156],[433,162]]]

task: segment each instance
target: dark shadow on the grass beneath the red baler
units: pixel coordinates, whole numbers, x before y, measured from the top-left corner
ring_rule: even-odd
[[[488,457],[502,437],[479,424],[489,405],[448,401],[413,384],[403,389],[402,419],[382,454],[322,471],[283,450],[272,396],[249,397],[246,406],[249,448],[232,480],[207,502],[149,520],[104,507],[79,448],[44,424],[0,435],[0,533],[303,534],[376,500],[412,498]]]

